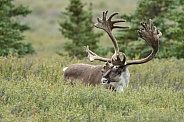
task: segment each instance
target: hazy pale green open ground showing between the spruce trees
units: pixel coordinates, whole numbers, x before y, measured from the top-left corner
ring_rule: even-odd
[[[59,31],[58,21],[61,18],[61,11],[69,4],[69,0],[15,0],[16,5],[27,6],[32,13],[27,17],[21,18],[21,22],[28,24],[31,28],[24,32],[26,41],[32,43],[36,56],[49,57],[56,52],[63,51],[63,43],[69,41],[63,37]],[[82,0],[83,3],[93,4],[93,21],[101,17],[103,11],[108,10],[109,13],[119,12],[132,13],[136,8],[137,0]],[[95,29],[98,31],[98,29]],[[101,31],[102,32],[102,31]],[[109,38],[104,34],[100,38],[100,44],[111,45]]]

